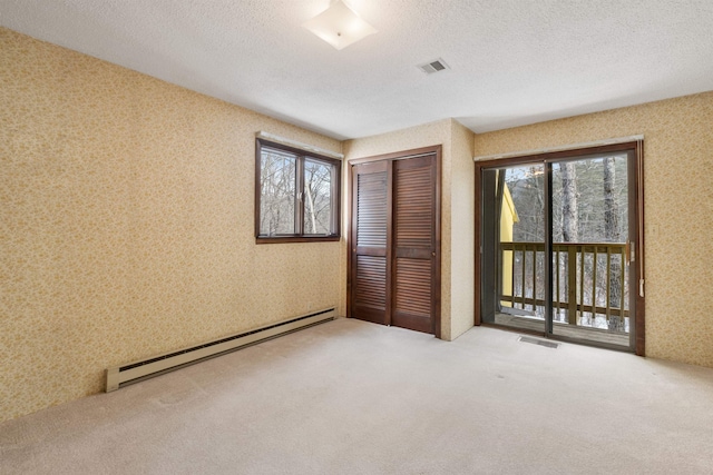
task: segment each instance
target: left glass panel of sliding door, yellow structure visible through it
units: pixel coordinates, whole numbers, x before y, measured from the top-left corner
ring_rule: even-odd
[[[545,333],[545,165],[482,170],[481,319]]]

